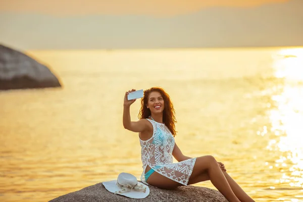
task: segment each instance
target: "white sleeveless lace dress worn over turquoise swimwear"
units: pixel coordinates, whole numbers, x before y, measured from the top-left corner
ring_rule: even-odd
[[[141,140],[141,160],[143,172],[141,181],[148,184],[145,180],[145,169],[147,165],[157,173],[187,185],[196,158],[188,159],[182,162],[173,163],[173,149],[175,139],[165,124],[147,119],[154,127],[154,133],[148,140]]]

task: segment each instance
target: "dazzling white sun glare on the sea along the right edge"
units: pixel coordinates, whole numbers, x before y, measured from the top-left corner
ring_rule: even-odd
[[[275,56],[274,69],[284,84],[272,96],[276,108],[270,111],[271,132],[278,138],[272,138],[267,148],[283,155],[271,168],[281,172],[276,183],[303,188],[303,48],[282,49]],[[294,197],[292,201],[301,196]]]

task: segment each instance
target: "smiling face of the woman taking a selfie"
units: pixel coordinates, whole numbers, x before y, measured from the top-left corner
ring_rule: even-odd
[[[149,93],[147,108],[151,114],[163,113],[164,110],[164,98],[160,92],[153,91]]]

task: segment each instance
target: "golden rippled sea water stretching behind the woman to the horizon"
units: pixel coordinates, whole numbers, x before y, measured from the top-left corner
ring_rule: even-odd
[[[303,201],[303,48],[27,53],[63,87],[0,92],[0,201],[47,201],[121,172],[139,179],[123,97],[152,86],[171,96],[183,154],[213,155],[256,201]]]

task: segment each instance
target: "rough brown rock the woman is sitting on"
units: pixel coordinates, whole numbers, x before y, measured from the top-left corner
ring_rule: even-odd
[[[171,201],[227,201],[225,197],[217,190],[197,187],[180,186],[174,190],[159,189],[149,186],[150,193],[146,198],[133,199],[119,194],[114,194],[106,190],[102,183],[85,187],[81,190],[59,196],[50,202],[108,202],[108,201],[142,201],[142,202],[171,202]]]

